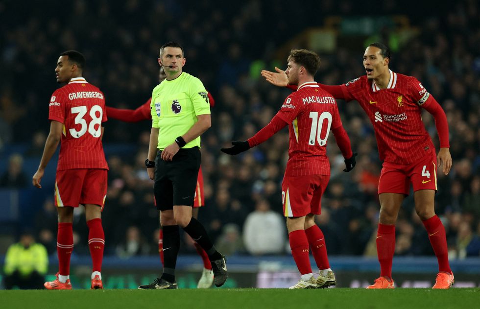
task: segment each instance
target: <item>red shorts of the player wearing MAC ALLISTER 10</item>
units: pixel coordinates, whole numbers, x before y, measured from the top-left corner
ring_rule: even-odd
[[[320,214],[322,194],[329,180],[330,175],[284,176],[282,182],[284,216]]]

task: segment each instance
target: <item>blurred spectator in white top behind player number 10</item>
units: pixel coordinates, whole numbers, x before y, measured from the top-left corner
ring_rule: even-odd
[[[286,243],[284,218],[270,210],[266,200],[259,200],[255,211],[248,214],[243,226],[243,243],[248,253],[254,255],[279,254]]]

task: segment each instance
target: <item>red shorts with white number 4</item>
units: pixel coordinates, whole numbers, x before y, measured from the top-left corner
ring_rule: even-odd
[[[378,193],[400,193],[410,192],[410,184],[413,191],[437,190],[437,157],[435,151],[410,165],[384,162]]]

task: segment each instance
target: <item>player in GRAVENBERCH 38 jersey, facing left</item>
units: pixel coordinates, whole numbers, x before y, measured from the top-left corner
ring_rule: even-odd
[[[103,153],[102,122],[107,121],[103,93],[82,77],[85,57],[78,51],[60,54],[55,74],[57,83],[67,83],[50,98],[50,133],[33,175],[32,183],[40,182],[45,167],[61,142],[55,179],[55,205],[58,211],[58,273],[47,289],[72,289],[70,257],[73,251],[73,208],[82,204],[89,227],[88,244],[92,256],[92,289],[102,289],[101,265],[105,237],[101,211],[107,194],[108,165]]]

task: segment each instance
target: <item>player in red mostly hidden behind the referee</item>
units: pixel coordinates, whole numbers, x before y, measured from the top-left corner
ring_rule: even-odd
[[[159,83],[161,83],[167,76],[163,71],[163,68],[160,68],[158,78]],[[208,93],[210,107],[215,105],[215,100],[213,96]],[[137,109],[120,109],[115,107],[107,106],[107,115],[109,118],[118,119],[124,122],[139,122],[142,120],[152,120],[151,112],[150,112],[150,104],[152,98],[150,97],[144,104],[140,105]],[[197,179],[197,186],[195,188],[195,198],[193,200],[193,210],[192,210],[192,217],[195,219],[198,218],[198,210],[200,207],[205,205],[205,195],[203,190],[203,174],[202,174],[202,167],[198,170],[198,179]],[[194,243],[195,249],[198,255],[202,258],[203,261],[203,271],[200,280],[198,281],[197,288],[209,288],[212,286],[214,282],[214,276],[211,272],[212,264],[208,258],[207,253],[203,248],[195,241]],[[159,238],[158,238],[158,252],[160,255],[160,261],[162,264],[163,260],[163,230],[160,229]]]

